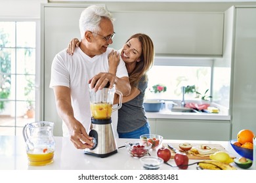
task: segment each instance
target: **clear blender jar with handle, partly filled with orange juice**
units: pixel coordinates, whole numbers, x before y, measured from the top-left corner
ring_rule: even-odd
[[[119,103],[116,108],[113,107],[114,95],[119,95]],[[89,86],[91,116],[96,120],[110,119],[112,112],[121,108],[123,94],[113,88],[102,88],[95,92]]]

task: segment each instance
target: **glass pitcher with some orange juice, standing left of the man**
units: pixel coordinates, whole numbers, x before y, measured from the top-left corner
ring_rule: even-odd
[[[23,127],[28,164],[33,166],[53,163],[55,141],[53,122],[33,122]]]

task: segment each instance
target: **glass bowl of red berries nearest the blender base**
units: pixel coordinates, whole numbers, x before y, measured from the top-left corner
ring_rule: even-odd
[[[141,158],[145,156],[152,144],[150,142],[140,142],[140,141],[128,141],[125,142],[125,148],[128,150],[128,153],[134,158]]]

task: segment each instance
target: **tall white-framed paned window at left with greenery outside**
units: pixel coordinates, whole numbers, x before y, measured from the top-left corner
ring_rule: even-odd
[[[0,135],[35,121],[36,22],[0,22]]]

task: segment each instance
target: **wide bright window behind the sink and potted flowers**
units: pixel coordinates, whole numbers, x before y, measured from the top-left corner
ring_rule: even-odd
[[[182,86],[196,86],[200,93],[210,95],[211,91],[211,59],[172,58],[168,60],[155,59],[155,65],[148,72],[148,90],[146,99],[182,99]],[[152,86],[162,84],[167,90],[163,93],[154,93]],[[200,100],[196,93],[186,94],[185,100]]]

